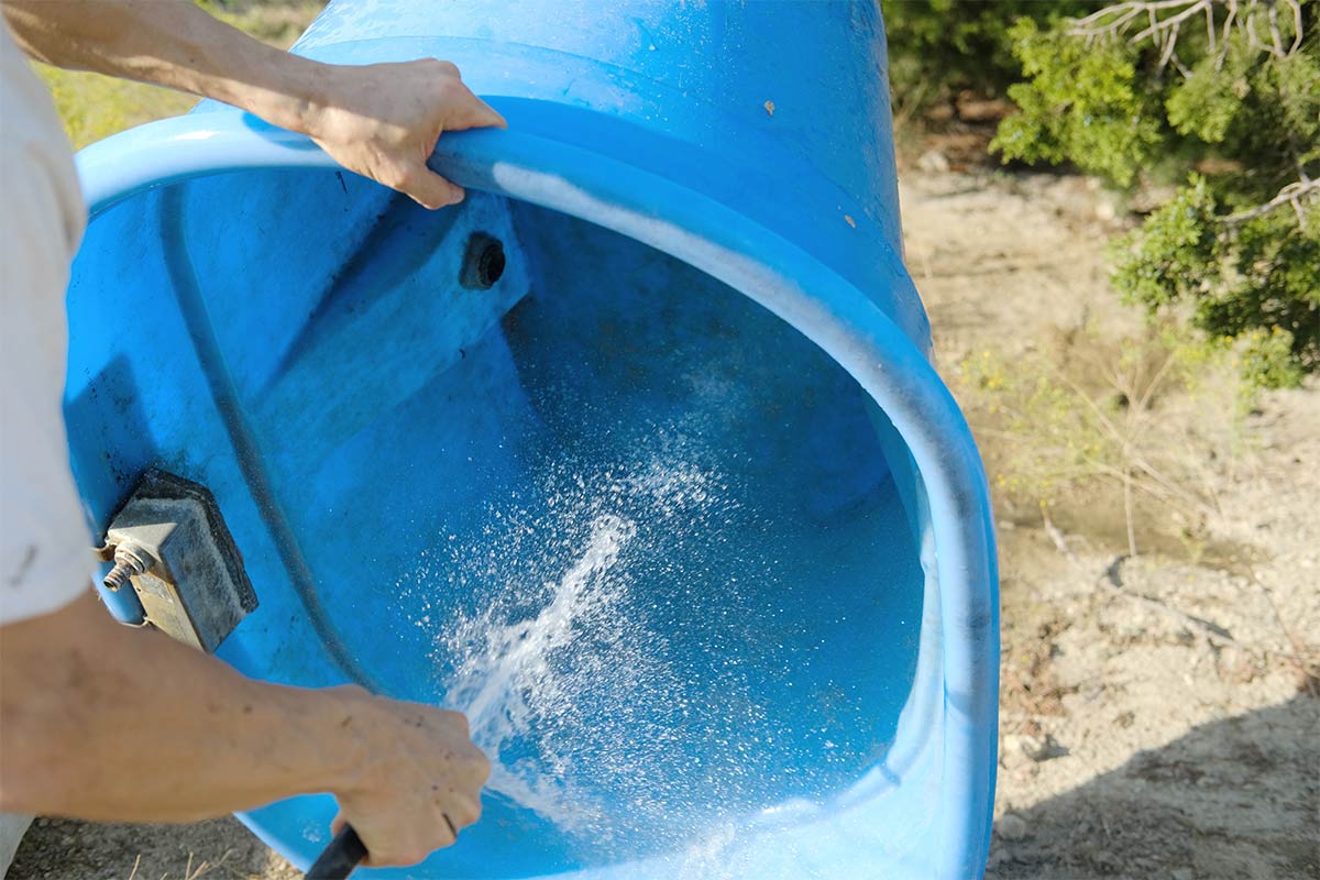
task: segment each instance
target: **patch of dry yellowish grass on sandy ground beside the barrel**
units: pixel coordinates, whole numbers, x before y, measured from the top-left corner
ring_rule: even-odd
[[[952,379],[1002,519],[1055,521],[1133,557],[1245,561],[1205,529],[1221,512],[1210,478],[1234,466],[1251,400],[1232,352],[1173,326],[1078,329],[1024,356],[979,351]]]

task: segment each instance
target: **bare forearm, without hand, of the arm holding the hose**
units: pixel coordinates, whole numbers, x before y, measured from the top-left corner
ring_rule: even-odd
[[[0,809],[182,822],[343,793],[354,707],[120,627],[88,592],[0,629]]]

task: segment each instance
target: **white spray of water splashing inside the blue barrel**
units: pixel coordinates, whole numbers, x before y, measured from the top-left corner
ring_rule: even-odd
[[[424,607],[444,702],[492,757],[488,789],[611,856],[682,846],[711,802],[737,801],[755,769],[730,728],[766,722],[737,650],[694,635],[704,607],[737,610],[738,583],[705,591],[713,559],[738,555],[739,504],[675,454],[681,438],[659,439],[642,462],[546,466],[535,497],[446,536],[408,584],[465,598]]]

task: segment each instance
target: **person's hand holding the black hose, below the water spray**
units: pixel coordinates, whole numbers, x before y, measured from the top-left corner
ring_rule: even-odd
[[[346,701],[343,732],[354,748],[335,833],[352,825],[367,864],[408,865],[447,847],[482,814],[490,761],[467,734],[467,719],[421,703],[335,689]]]

